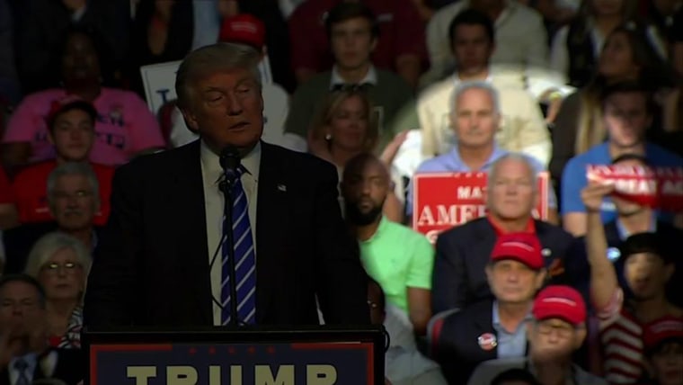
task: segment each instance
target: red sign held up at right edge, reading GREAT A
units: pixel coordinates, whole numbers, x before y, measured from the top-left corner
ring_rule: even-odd
[[[589,165],[586,177],[614,184],[614,195],[654,209],[683,211],[683,167]]]

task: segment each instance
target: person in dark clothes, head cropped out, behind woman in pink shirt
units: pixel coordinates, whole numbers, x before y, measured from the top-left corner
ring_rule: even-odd
[[[112,75],[121,69],[129,52],[130,2],[128,0],[29,0],[16,24],[17,70],[24,94],[56,87],[62,52],[60,38],[70,28],[93,28],[107,49],[102,66]],[[109,75],[109,74],[107,74]],[[66,79],[62,79],[66,80]]]

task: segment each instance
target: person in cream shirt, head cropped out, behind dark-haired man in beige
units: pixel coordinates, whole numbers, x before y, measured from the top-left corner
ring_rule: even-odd
[[[526,76],[528,90],[539,97],[549,78],[546,28],[541,15],[519,2],[505,0],[464,0],[439,9],[427,25],[430,73],[424,82],[448,76],[453,67],[452,36],[449,26],[467,8],[486,13],[495,23],[495,46],[491,61]]]

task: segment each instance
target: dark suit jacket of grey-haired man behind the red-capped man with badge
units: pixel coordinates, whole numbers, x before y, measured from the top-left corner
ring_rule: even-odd
[[[541,245],[550,252],[544,256],[546,266],[555,274],[551,282],[572,284],[573,255],[585,252],[562,228],[536,220],[536,232]],[[487,218],[471,220],[439,235],[431,286],[434,314],[492,298],[484,268],[491,260],[496,237]]]

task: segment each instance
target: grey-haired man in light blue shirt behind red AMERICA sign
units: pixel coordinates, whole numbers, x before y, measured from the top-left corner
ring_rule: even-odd
[[[418,166],[415,174],[443,172],[486,172],[499,158],[508,151],[499,147],[496,139],[501,132],[501,103],[496,89],[488,82],[467,81],[457,85],[449,99],[449,128],[455,133],[455,145],[447,153],[424,161]],[[514,136],[513,132],[503,132],[501,139],[510,144],[506,137]],[[520,142],[523,143],[523,142]],[[516,147],[516,146],[513,146]],[[519,146],[521,147],[521,146]],[[528,157],[524,155],[524,157]],[[528,163],[535,173],[545,170],[536,158],[528,157]],[[535,184],[534,191],[537,190]],[[406,212],[413,215],[412,185],[408,187]],[[548,220],[557,223],[557,201],[554,192],[548,193]],[[534,202],[536,204],[536,201]]]

